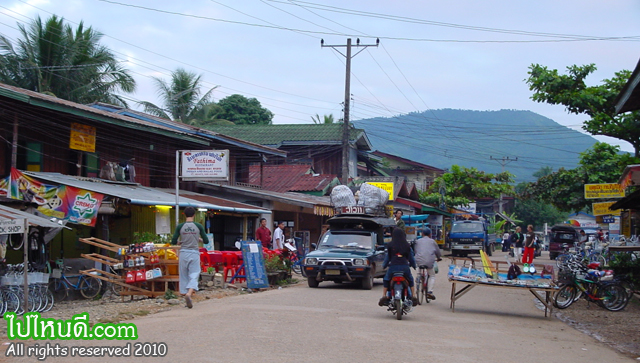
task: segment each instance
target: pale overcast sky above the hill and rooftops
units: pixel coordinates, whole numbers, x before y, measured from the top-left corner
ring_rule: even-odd
[[[596,85],[640,58],[637,0],[4,0],[0,33],[15,40],[16,22],[52,14],[104,34],[137,81],[132,101],[159,103],[152,77],[168,80],[182,67],[201,74],[205,87],[219,86],[216,100],[257,98],[276,124],[342,118],[345,58],[321,47],[321,38],[325,45],[380,38],[352,59],[352,120],[517,109],[579,129],[585,116],[530,99],[529,65],[564,72],[595,63],[588,82]]]

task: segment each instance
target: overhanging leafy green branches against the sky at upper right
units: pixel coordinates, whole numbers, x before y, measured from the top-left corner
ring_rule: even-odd
[[[559,75],[539,64],[529,67],[527,84],[534,91],[531,99],[552,105],[564,105],[569,113],[585,114],[591,119],[582,128],[592,135],[606,135],[633,145],[635,157],[640,157],[640,112],[617,115],[614,100],[629,80],[631,72],[616,72],[601,85],[587,86],[585,78],[596,70],[594,64],[569,66],[568,74]]]

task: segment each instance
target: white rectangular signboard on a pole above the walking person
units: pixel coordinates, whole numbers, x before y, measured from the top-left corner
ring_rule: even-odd
[[[183,180],[229,180],[229,150],[183,150]]]

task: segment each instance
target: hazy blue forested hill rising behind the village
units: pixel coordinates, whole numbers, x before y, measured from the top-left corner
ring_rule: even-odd
[[[533,173],[550,166],[574,168],[579,153],[597,140],[531,111],[441,109],[395,117],[353,121],[364,129],[373,150],[438,168],[458,164],[490,173],[505,165],[516,182],[532,181]],[[500,160],[492,160],[500,159]]]

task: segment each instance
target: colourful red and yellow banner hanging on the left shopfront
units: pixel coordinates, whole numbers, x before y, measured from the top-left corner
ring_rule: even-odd
[[[10,193],[9,193],[10,191]],[[95,226],[104,195],[69,185],[45,184],[17,169],[0,181],[0,195],[38,205],[38,211],[71,223]]]

